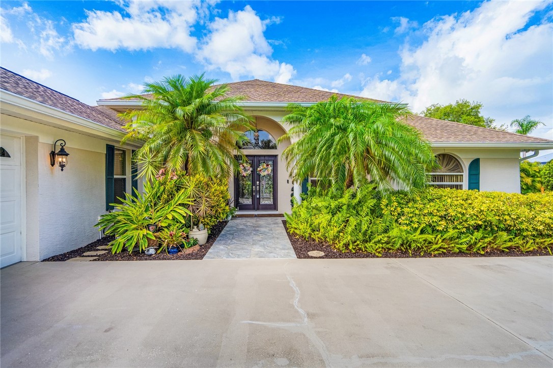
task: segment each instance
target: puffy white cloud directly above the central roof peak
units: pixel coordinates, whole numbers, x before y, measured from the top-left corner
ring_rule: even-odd
[[[228,72],[234,80],[253,76],[289,83],[296,73],[294,67],[270,57],[273,49],[263,34],[267,25],[277,22],[280,19],[261,20],[250,6],[229,11],[228,18],[215,18],[208,25],[210,34],[202,41],[196,57],[209,69]]]

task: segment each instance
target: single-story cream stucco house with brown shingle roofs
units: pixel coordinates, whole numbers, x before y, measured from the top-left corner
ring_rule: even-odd
[[[246,132],[253,144],[243,150],[252,173],[229,178],[231,196],[244,213],[288,212],[291,195],[299,198],[305,183],[292,183],[286,170],[282,152],[290,142],[276,144],[288,130],[282,122],[285,108],[290,102],[309,106],[333,93],[258,79],[228,85],[230,94],[248,97],[242,105],[257,128]],[[109,204],[133,187],[142,190],[131,166],[140,142],[121,145],[124,130],[116,116],[140,108],[140,102],[97,103],[81,103],[0,69],[1,266],[42,260],[94,241],[99,233],[93,226]],[[406,123],[419,129],[438,155],[444,168],[432,173],[438,186],[519,193],[520,152],[553,148],[553,141],[542,138],[416,115]],[[55,155],[63,153],[60,143],[69,156]],[[257,173],[260,167],[264,175]]]

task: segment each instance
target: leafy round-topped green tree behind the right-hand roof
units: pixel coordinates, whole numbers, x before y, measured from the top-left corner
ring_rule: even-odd
[[[434,118],[447,121],[462,122],[463,124],[480,126],[483,128],[505,130],[503,125],[497,127],[493,123],[495,119],[484,118],[480,113],[482,104],[479,102],[469,102],[462,99],[457,100],[455,104],[440,105],[433,104],[428,106],[420,115],[426,118]]]

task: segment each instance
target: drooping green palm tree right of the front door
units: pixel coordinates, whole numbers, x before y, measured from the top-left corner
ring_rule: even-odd
[[[337,190],[369,179],[383,188],[426,185],[435,157],[414,127],[398,121],[409,114],[404,106],[334,95],[310,107],[290,104],[289,110],[283,120],[291,128],[279,142],[293,142],[284,157],[296,182],[316,177]]]

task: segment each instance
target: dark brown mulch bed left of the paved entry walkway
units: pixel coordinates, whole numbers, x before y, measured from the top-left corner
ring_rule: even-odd
[[[97,259],[92,260],[92,262],[95,261],[107,261],[107,260],[181,260],[181,259],[203,259],[206,255],[207,251],[211,248],[213,243],[215,243],[217,237],[225,226],[227,226],[228,221],[221,221],[217,223],[217,225],[213,226],[211,228],[211,233],[207,237],[207,243],[205,243],[203,246],[200,246],[200,250],[197,250],[194,253],[184,254],[182,252],[176,253],[176,254],[167,254],[165,252],[160,252],[158,254],[154,255],[147,255],[144,253],[138,253],[133,252],[129,253],[125,249],[119,254],[112,254],[111,250],[105,249],[108,252],[100,255],[96,255],[94,257],[98,257]],[[54,255],[53,257],[46,258],[42,262],[63,262],[67,259],[80,257],[85,252],[95,252],[96,247],[99,246],[107,246],[109,242],[113,240],[112,236],[106,236],[103,237],[100,240],[97,240],[95,242],[92,242],[90,244],[87,244],[84,247],[81,247],[79,249],[71,250],[70,252]]]

